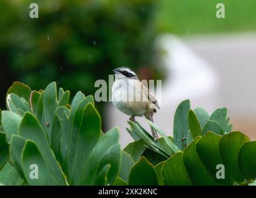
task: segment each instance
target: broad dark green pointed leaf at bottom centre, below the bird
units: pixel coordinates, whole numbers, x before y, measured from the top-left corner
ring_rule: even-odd
[[[130,171],[129,186],[156,186],[157,173],[145,157],[140,158]]]

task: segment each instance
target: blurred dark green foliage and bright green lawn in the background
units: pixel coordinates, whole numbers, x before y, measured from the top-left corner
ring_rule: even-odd
[[[32,2],[39,19],[29,17]],[[218,2],[226,19],[216,18]],[[158,35],[255,30],[255,7],[255,0],[1,0],[0,108],[14,80],[35,90],[57,81],[94,95],[94,82],[118,66],[162,79]]]

